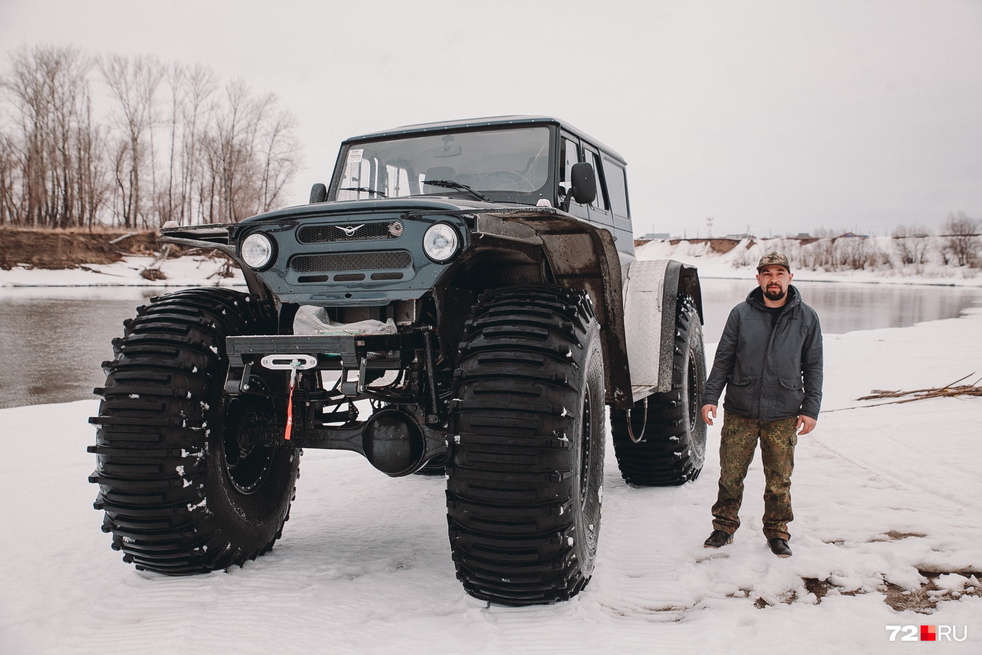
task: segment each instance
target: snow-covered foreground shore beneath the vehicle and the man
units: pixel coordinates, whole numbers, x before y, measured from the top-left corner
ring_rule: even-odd
[[[827,336],[824,408],[982,375],[980,334],[972,309]],[[798,443],[787,560],[760,532],[759,458],[735,543],[702,547],[720,421],[701,477],[682,487],[628,488],[608,444],[592,581],[571,602],[520,609],[487,607],[455,579],[442,478],[387,478],[343,452],[306,452],[269,555],[228,573],[137,573],[91,509],[95,411],[94,401],[0,410],[5,654],[893,653],[905,646],[885,627],[921,624],[959,636],[967,626],[968,639],[914,648],[982,646],[979,587],[963,592],[977,580],[946,574],[925,592],[919,573],[982,571],[982,398],[823,413]],[[805,578],[831,585],[821,602]],[[939,602],[930,616],[898,612],[887,591]]]

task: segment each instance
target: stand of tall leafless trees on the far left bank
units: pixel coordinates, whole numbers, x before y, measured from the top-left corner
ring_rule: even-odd
[[[296,119],[241,80],[219,94],[208,69],[109,55],[112,100],[93,114],[93,60],[22,48],[0,85],[0,223],[128,228],[239,221],[280,202],[297,171]]]

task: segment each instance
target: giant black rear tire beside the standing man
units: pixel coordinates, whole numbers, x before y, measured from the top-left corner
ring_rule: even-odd
[[[675,345],[672,358],[672,391],[647,398],[630,412],[631,432],[627,433],[627,411],[611,410],[614,453],[621,475],[637,486],[673,486],[694,480],[706,459],[706,424],[699,414],[702,388],[706,381],[706,355],[702,325],[695,303],[680,296],[676,310]],[[643,432],[642,432],[643,431]]]

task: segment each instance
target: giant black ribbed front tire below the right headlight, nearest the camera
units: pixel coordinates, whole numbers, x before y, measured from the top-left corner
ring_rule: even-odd
[[[566,600],[593,571],[604,469],[599,326],[583,292],[478,299],[451,401],[447,520],[457,576],[504,605]]]

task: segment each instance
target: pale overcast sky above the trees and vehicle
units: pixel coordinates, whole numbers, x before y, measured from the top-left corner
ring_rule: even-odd
[[[982,0],[0,0],[2,50],[23,43],[274,91],[300,122],[290,204],[346,136],[548,114],[627,159],[638,234],[982,216]]]

